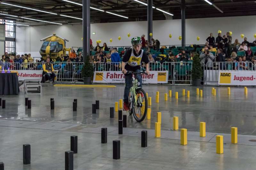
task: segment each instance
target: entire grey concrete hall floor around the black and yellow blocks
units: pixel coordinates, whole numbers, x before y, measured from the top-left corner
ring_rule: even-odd
[[[123,97],[123,85],[116,88],[43,87],[42,95],[21,92],[17,96],[1,96],[6,109],[0,108],[0,162],[6,169],[64,169],[64,152],[70,150],[70,136],[78,136],[75,169],[255,169],[256,142],[255,88],[211,87],[196,96],[196,87],[144,85],[152,97],[151,120],[136,122],[128,116],[123,135],[118,135],[117,113],[109,118],[109,107]],[[190,90],[190,98],[181,96]],[[168,90],[179,92],[164,101]],[[160,101],[155,103],[156,91]],[[24,107],[25,97],[32,100],[32,109]],[[50,110],[50,98],[55,110]],[[78,100],[77,112],[72,110]],[[100,100],[100,110],[91,114],[92,103]],[[154,138],[156,112],[162,112],[161,138]],[[128,114],[123,112],[124,114]],[[188,145],[180,145],[180,131],[173,131],[172,117],[179,116],[179,127],[188,129]],[[206,122],[205,138],[199,137],[199,122]],[[100,143],[100,128],[108,127],[108,144]],[[237,127],[238,144],[230,144],[230,127]],[[140,147],[140,131],[148,130],[148,147]],[[215,153],[215,136],[224,136],[224,154]],[[121,159],[112,159],[112,140],[121,140]],[[22,144],[31,144],[31,165],[23,165]]]

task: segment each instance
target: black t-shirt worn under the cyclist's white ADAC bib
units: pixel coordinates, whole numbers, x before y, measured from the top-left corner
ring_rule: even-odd
[[[141,52],[142,52],[142,50],[140,49],[139,54],[137,55],[135,50],[133,50],[133,54],[136,57],[140,56]],[[124,55],[123,62],[125,62],[125,63],[128,62],[130,57],[131,57],[131,55],[132,55],[132,48],[130,48],[126,52],[126,54]],[[145,51],[143,51],[141,62],[144,62],[146,64],[148,63],[148,56],[147,56]],[[135,71],[135,70],[138,70],[138,69],[140,70],[140,65],[138,65],[138,66],[130,66],[129,64],[126,63],[124,68],[125,68],[125,70],[128,70],[128,71]]]

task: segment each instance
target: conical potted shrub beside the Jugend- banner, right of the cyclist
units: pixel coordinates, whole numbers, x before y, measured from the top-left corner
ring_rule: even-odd
[[[196,54],[193,57],[191,76],[192,76],[192,85],[200,86],[201,85],[201,79],[202,79],[202,76],[203,76],[203,70],[201,68],[199,54]]]

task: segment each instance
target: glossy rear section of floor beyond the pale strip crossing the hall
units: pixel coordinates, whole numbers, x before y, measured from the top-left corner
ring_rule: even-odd
[[[94,124],[98,126],[117,126],[115,118],[109,118],[109,107],[123,98],[124,85],[116,88],[82,88],[82,87],[43,87],[42,95],[24,94],[21,90],[17,96],[1,96],[6,100],[6,109],[0,108],[1,119],[28,120],[39,122],[66,122]],[[190,131],[199,131],[199,122],[206,122],[206,131],[230,133],[230,127],[237,127],[239,134],[256,135],[256,92],[254,87],[215,87],[217,95],[212,96],[212,87],[200,87],[203,97],[196,95],[196,87],[170,85],[144,85],[143,88],[152,97],[151,120],[136,122],[128,116],[127,126],[131,128],[154,129],[156,112],[162,112],[162,129],[172,129],[172,117],[179,117],[179,127]],[[190,98],[182,96],[182,89],[190,91]],[[172,97],[164,101],[164,93],[172,90]],[[159,103],[155,103],[156,91],[160,92]],[[176,100],[174,93],[179,92]],[[25,97],[32,100],[32,109],[25,108]],[[50,110],[50,98],[55,100],[55,110]],[[73,99],[78,100],[77,112],[72,110]],[[92,103],[100,100],[100,110],[92,114]],[[123,112],[123,114],[128,114]]]

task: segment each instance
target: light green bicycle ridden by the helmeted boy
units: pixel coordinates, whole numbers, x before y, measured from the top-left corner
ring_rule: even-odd
[[[146,92],[142,89],[142,87],[138,87],[138,80],[136,79],[136,74],[146,74],[145,71],[141,72],[133,72],[127,71],[126,74],[133,74],[135,76],[132,77],[132,86],[129,92],[129,114],[132,115],[137,122],[142,122],[148,110],[148,99]]]

